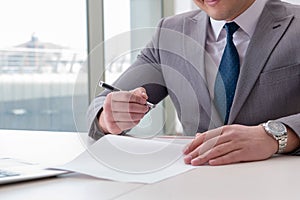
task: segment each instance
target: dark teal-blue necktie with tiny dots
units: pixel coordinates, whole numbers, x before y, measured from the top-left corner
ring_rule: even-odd
[[[216,77],[214,103],[224,124],[227,124],[240,72],[239,54],[232,40],[239,26],[231,22],[226,23],[224,27],[227,32],[227,43]]]

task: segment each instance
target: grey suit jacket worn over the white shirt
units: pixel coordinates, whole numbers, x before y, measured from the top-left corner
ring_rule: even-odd
[[[206,75],[217,69],[204,61],[208,23],[200,10],[162,19],[153,39],[115,82],[125,90],[145,87],[152,103],[169,95],[187,135],[222,125],[207,89]],[[229,124],[258,125],[272,119],[300,135],[299,36],[300,7],[270,0],[240,68]],[[94,139],[103,135],[96,115],[106,94],[96,97],[88,110]]]

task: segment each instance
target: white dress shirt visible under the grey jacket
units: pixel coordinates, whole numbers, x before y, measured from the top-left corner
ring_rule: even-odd
[[[243,65],[248,45],[267,1],[268,0],[254,1],[245,12],[233,20],[240,26],[233,35],[233,42],[240,57],[240,66]],[[208,90],[212,99],[214,97],[216,75],[226,46],[226,30],[223,28],[225,23],[227,23],[227,21],[217,21],[210,18],[210,24],[207,30],[205,71]]]

